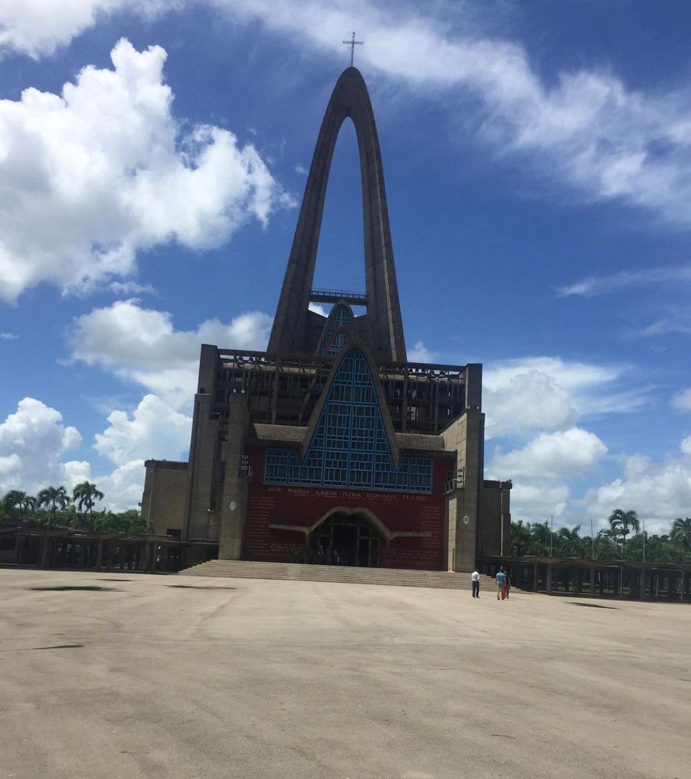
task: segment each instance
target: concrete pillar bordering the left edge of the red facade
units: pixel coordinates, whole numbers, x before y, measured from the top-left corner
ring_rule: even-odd
[[[216,509],[220,520],[219,559],[240,560],[249,495],[249,477],[240,474],[240,458],[244,453],[244,439],[250,414],[245,395],[231,395],[228,405],[228,432],[223,445],[226,478],[223,482],[221,505]],[[261,474],[253,474],[252,478],[261,479]]]

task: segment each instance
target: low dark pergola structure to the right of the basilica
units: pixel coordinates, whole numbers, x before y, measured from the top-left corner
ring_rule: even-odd
[[[503,568],[512,586],[521,590],[691,602],[691,563],[534,556],[482,557],[478,562],[482,573]]]

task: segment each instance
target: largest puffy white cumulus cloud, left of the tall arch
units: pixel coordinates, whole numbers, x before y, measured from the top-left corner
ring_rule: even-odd
[[[181,132],[162,48],[123,39],[110,56],[112,70],[88,66],[60,95],[0,100],[6,300],[41,281],[83,291],[125,277],[139,249],[168,241],[222,245],[290,202],[251,144],[212,125]]]

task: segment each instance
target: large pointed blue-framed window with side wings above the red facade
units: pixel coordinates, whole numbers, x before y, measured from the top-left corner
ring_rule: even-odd
[[[432,458],[403,456],[395,468],[370,366],[361,351],[351,349],[338,366],[303,462],[294,449],[267,449],[264,481],[432,492]]]

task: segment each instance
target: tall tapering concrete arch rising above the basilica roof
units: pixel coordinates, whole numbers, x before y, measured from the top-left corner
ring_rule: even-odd
[[[377,359],[405,362],[401,306],[377,125],[367,86],[356,68],[347,68],[342,72],[321,123],[268,351],[289,354],[314,351],[314,345],[308,343],[310,290],[331,159],[338,132],[346,117],[353,120],[360,152],[367,341]]]

